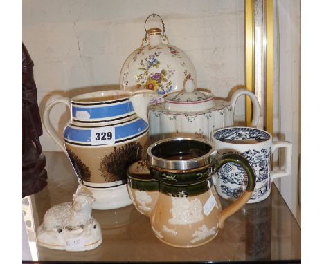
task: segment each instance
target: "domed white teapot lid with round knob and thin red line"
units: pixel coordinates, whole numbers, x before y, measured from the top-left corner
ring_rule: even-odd
[[[169,110],[201,111],[212,107],[214,95],[201,92],[193,79],[185,79],[183,90],[165,96],[165,107]]]

